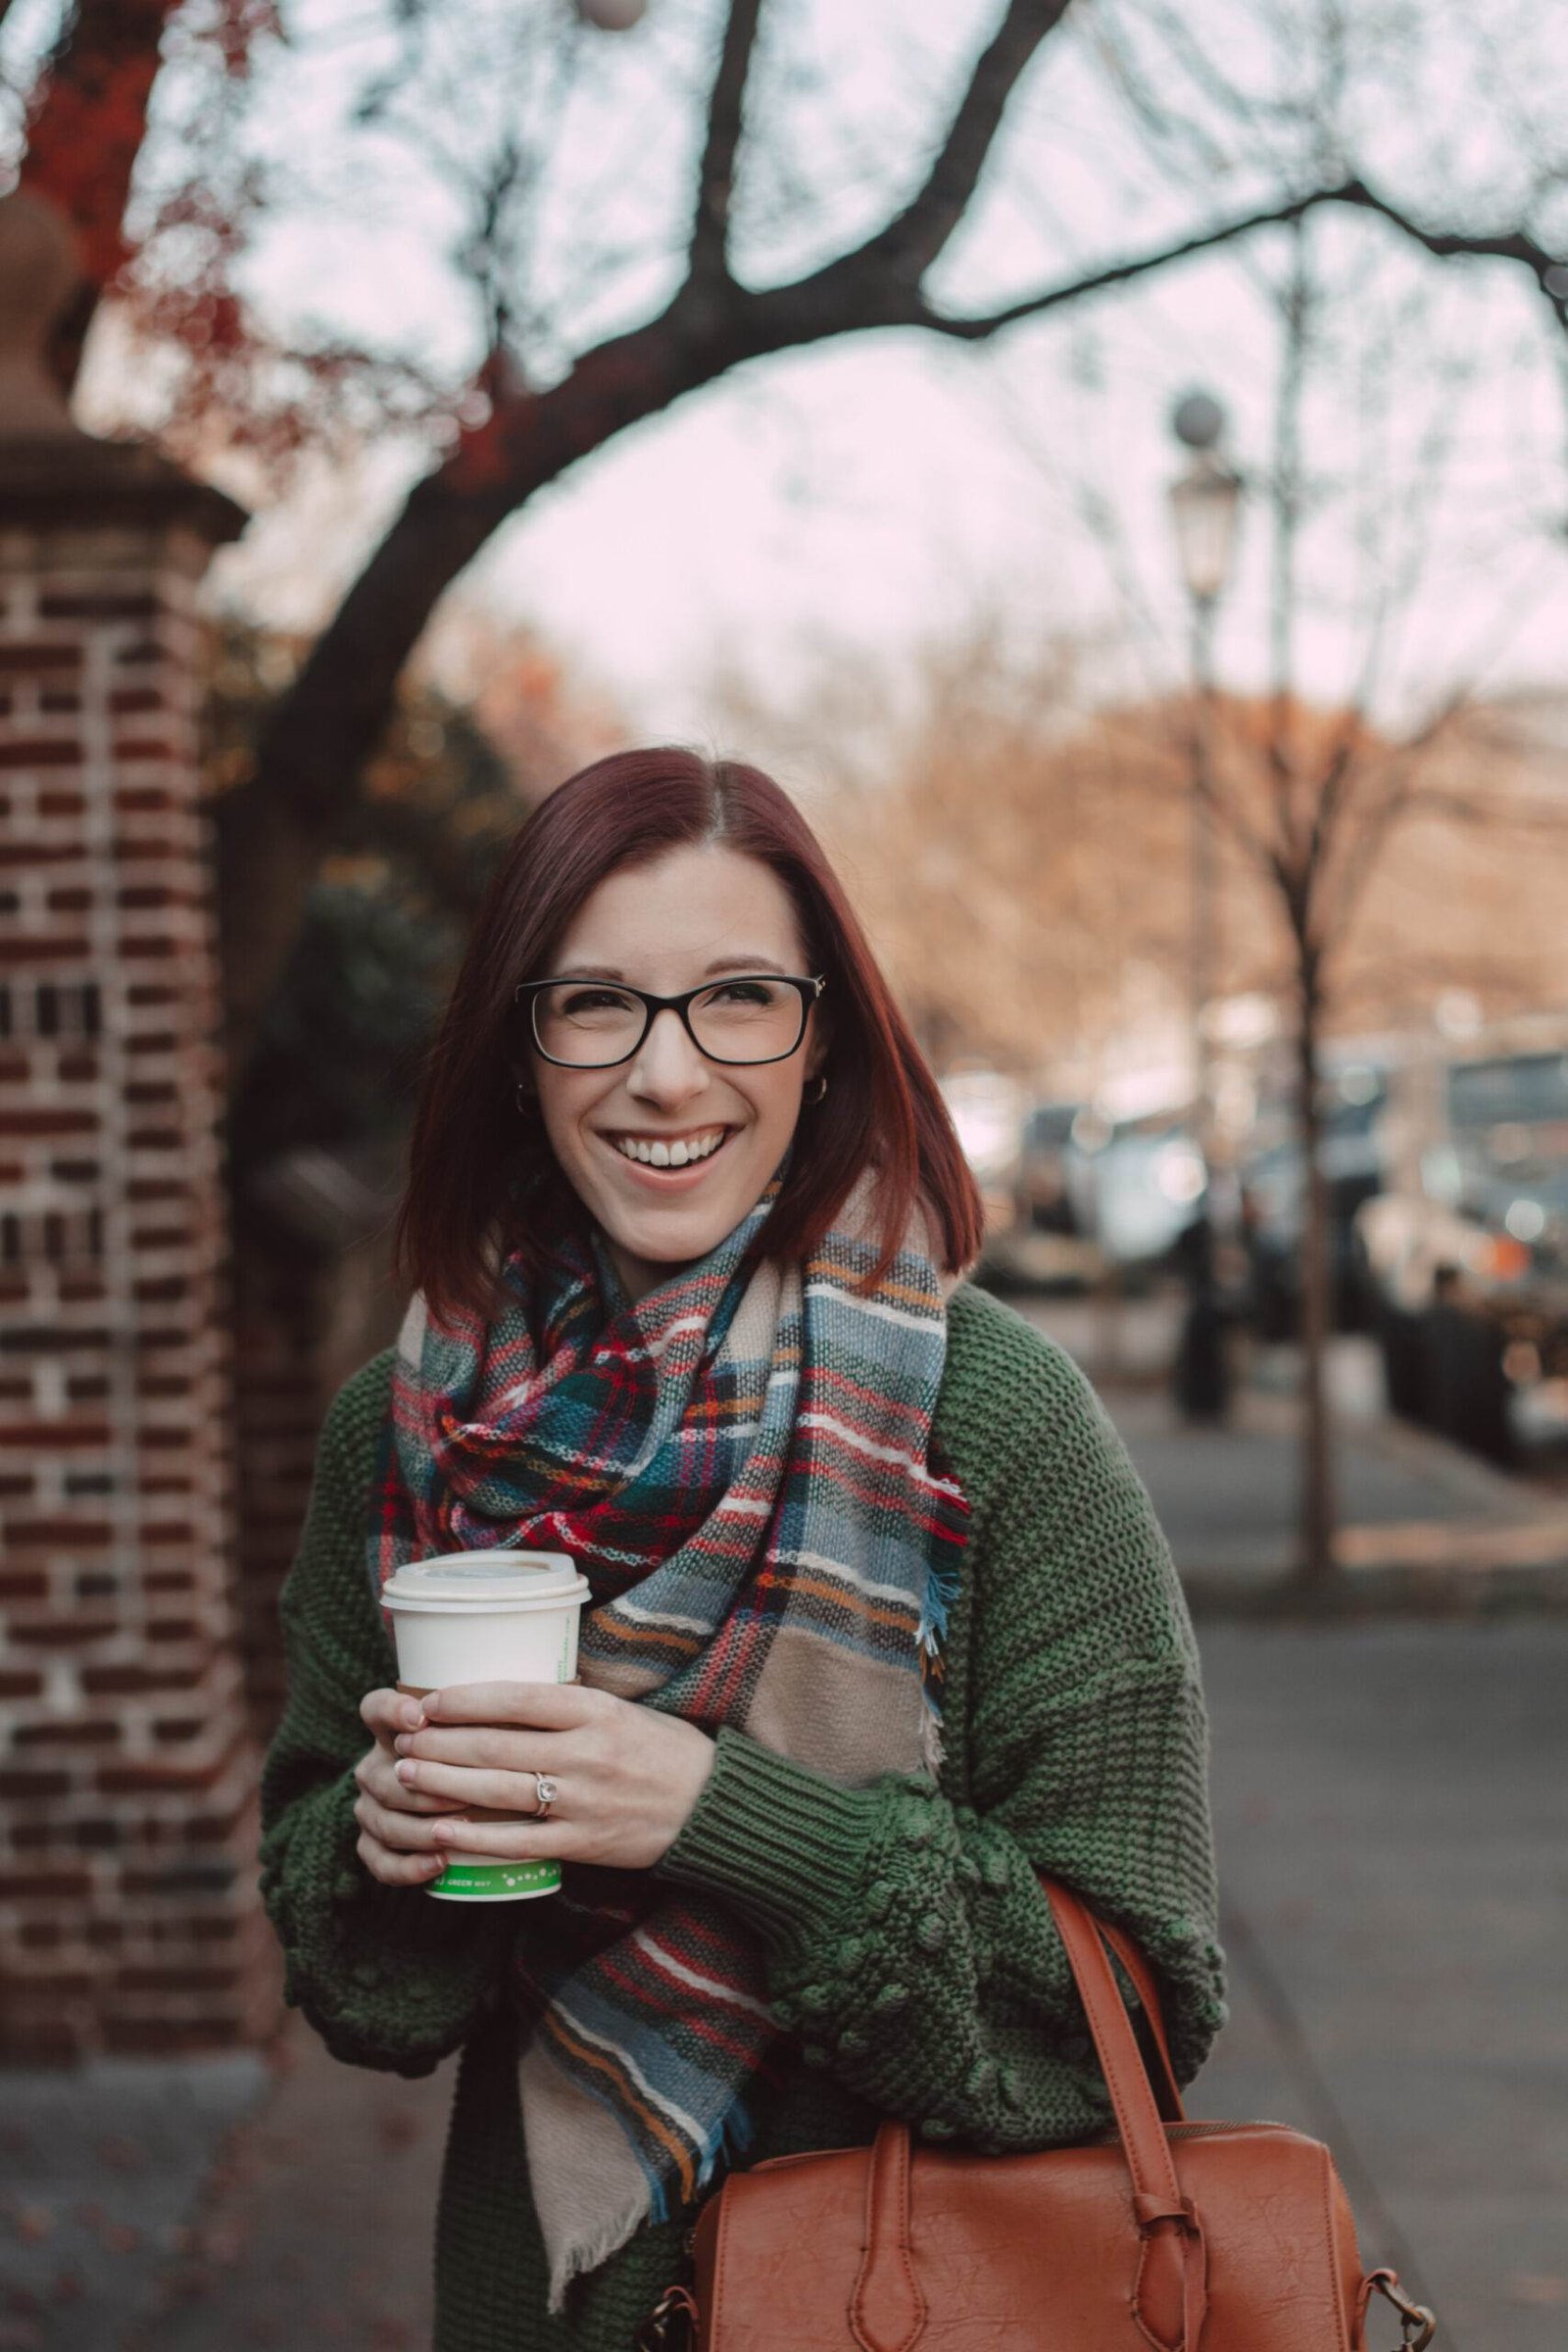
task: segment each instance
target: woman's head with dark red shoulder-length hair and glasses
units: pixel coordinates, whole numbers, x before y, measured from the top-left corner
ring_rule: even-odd
[[[769,978],[790,985],[757,1007]],[[936,1080],[799,809],[738,760],[599,760],[524,826],[480,910],[430,1051],[400,1263],[437,1310],[482,1310],[498,1235],[538,1268],[588,1211],[642,1294],[649,1268],[701,1258],[762,1197],[802,1105],[811,1148],[780,1178],[771,1254],[809,1251],[867,1176],[877,1277],[919,1195],[945,1263],[976,1256]],[[691,1141],[715,1129],[715,1164],[691,1176]]]

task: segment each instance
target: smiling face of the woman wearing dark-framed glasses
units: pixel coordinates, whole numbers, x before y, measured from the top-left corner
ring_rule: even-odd
[[[541,978],[625,981],[675,997],[724,971],[806,978],[788,891],[736,849],[670,849],[609,875],[555,941]],[[823,1065],[816,1007],[788,1061],[708,1061],[679,1014],[663,1011],[637,1054],[611,1070],[564,1070],[531,1051],[550,1148],[602,1228],[632,1301],[677,1265],[705,1258],[741,1223],[785,1155],[802,1087]],[[686,1167],[646,1167],[623,1143],[708,1143]]]

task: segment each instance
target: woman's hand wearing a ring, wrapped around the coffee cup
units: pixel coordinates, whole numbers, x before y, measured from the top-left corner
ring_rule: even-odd
[[[536,1773],[557,1783],[548,1820],[454,1820],[425,1837],[496,1860],[646,1870],[675,1844],[712,1771],[712,1740],[679,1715],[578,1682],[463,1682],[425,1691],[423,1731],[400,1731],[404,1802],[534,1813]]]

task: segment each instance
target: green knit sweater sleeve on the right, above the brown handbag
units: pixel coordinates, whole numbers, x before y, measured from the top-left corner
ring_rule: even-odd
[[[1206,1719],[1164,1536],[1098,1397],[1030,1336],[971,1519],[969,1726],[943,1790],[844,1788],[722,1731],[658,1865],[759,1933],[776,2020],[926,2138],[1060,2145],[1110,2103],[1037,1872],[1157,1969],[1180,2079],[1222,2023]],[[976,1458],[983,1470],[983,1449]]]

